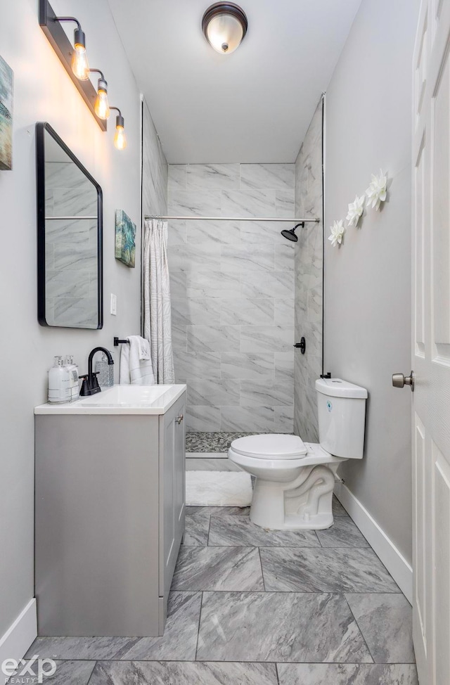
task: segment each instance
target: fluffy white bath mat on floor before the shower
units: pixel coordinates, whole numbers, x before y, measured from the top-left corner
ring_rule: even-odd
[[[249,506],[250,473],[235,471],[186,471],[187,506]]]

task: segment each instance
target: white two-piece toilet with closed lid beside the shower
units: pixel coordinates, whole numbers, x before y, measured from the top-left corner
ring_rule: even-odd
[[[333,524],[335,473],[362,459],[367,390],[340,378],[316,380],[320,443],[297,435],[250,435],[231,443],[229,459],[256,476],[250,520],[275,530]]]

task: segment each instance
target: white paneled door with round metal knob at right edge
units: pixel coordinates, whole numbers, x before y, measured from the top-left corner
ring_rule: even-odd
[[[450,684],[449,49],[450,0],[423,1],[413,58],[413,638],[420,685]]]

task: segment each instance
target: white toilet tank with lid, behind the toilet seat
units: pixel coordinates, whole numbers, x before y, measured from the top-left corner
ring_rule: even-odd
[[[362,459],[367,390],[340,378],[316,380],[319,442],[334,456]]]

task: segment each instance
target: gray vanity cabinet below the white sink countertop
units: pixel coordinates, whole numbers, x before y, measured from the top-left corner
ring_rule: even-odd
[[[165,414],[39,414],[38,633],[158,636],[184,535],[186,392]]]

